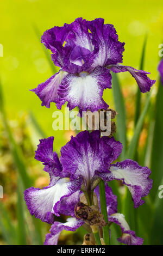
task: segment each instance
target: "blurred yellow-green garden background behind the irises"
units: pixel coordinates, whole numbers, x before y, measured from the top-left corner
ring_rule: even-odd
[[[117,0],[116,2],[6,0],[0,2],[0,44],[3,45],[3,57],[0,57],[2,87],[0,185],[3,186],[4,192],[3,199],[0,199],[0,245],[41,244],[49,230],[48,224],[29,216],[23,202],[24,186],[28,187],[32,184],[41,188],[48,184],[48,176],[42,172],[42,165],[34,160],[34,151],[39,139],[54,136],[54,149],[59,153],[60,148],[70,140],[71,135],[74,135],[74,131],[54,131],[52,114],[57,109],[55,104],[52,103],[50,109],[41,107],[39,98],[29,90],[47,80],[58,70],[49,60],[50,52],[40,43],[40,36],[46,29],[62,26],[65,22],[71,23],[77,17],[87,20],[103,17],[105,23],[112,23],[120,41],[126,42],[123,64],[134,66],[134,68],[140,68],[142,47],[147,36],[143,68],[150,71],[150,78],[157,81],[152,89],[147,115],[143,119],[141,132],[137,138],[139,143],[136,144],[137,153],[134,157],[141,164],[146,163],[153,167],[155,185],[152,196],[147,199],[147,206],[141,206],[142,210],[137,211],[135,228],[137,235],[145,239],[145,244],[163,244],[161,235],[163,199],[158,200],[158,186],[163,177],[160,132],[163,94],[159,87],[157,71],[159,44],[163,37],[162,7],[161,0]],[[137,94],[134,78],[128,72],[118,75],[118,78],[127,113],[128,145],[134,135],[135,102],[138,96],[140,99],[140,95]],[[158,88],[160,88],[160,96],[157,94]],[[104,99],[110,107],[116,108],[112,90],[105,90]],[[146,107],[146,101],[147,96],[142,95],[140,112],[143,112],[144,106]],[[155,137],[156,133],[158,137]],[[119,186],[122,194],[120,198],[124,199],[123,187],[120,184],[116,185]],[[61,216],[61,219],[65,220],[65,217]],[[129,224],[132,225],[132,223]],[[114,237],[116,237],[119,230],[114,231]],[[64,231],[59,242],[81,244],[83,234],[82,228],[76,235]]]

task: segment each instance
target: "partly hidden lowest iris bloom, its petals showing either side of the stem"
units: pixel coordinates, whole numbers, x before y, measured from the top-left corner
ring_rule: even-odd
[[[99,196],[99,186],[95,188],[95,194],[97,196],[99,209],[100,206],[100,196]],[[117,213],[117,197],[112,193],[111,188],[105,184],[105,194],[106,194],[106,207],[108,212],[109,224],[112,222],[120,225],[122,230],[122,236],[117,240],[126,245],[142,245],[143,239],[137,237],[135,232],[130,230],[128,223],[126,222],[122,214]],[[66,223],[54,222],[50,229],[51,233],[46,235],[45,245],[57,245],[58,238],[62,230],[76,231],[79,227],[84,224],[83,220],[77,218],[68,218]]]

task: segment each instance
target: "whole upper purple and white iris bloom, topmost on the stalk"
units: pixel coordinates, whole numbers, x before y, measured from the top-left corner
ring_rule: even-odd
[[[104,24],[104,19],[78,18],[70,25],[48,29],[41,42],[52,51],[52,60],[60,67],[57,74],[32,90],[42,106],[49,108],[55,102],[61,109],[67,101],[70,110],[79,107],[80,113],[107,109],[102,96],[104,89],[111,88],[110,70],[129,71],[142,93],[149,92],[155,83],[147,77],[148,72],[121,64],[124,42],[118,41],[114,26]]]

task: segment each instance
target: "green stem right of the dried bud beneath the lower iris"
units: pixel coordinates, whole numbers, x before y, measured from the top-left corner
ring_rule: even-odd
[[[105,195],[105,184],[102,180],[99,183],[99,196],[100,196],[100,204],[101,204],[101,213],[104,216],[104,221],[108,223],[108,212],[106,208],[106,195]],[[110,234],[109,234],[109,226],[108,224],[103,227],[103,236],[105,245],[110,245]]]

